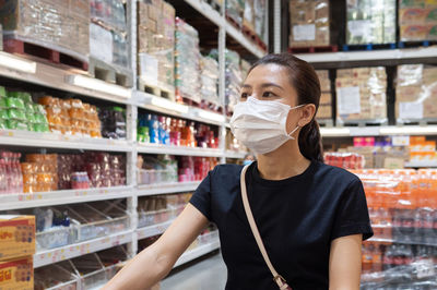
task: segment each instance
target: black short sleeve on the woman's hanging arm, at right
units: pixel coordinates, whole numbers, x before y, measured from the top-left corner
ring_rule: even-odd
[[[363,183],[356,178],[343,192],[336,207],[331,240],[359,233],[363,240],[374,235]]]

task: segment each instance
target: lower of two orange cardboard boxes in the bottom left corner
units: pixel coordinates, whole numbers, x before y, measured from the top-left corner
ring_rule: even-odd
[[[32,256],[0,262],[0,289],[34,289],[34,267]]]

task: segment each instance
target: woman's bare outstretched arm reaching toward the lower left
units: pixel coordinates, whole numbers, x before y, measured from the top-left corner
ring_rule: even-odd
[[[150,289],[167,276],[208,222],[194,206],[188,204],[165,233],[130,261],[103,289]]]

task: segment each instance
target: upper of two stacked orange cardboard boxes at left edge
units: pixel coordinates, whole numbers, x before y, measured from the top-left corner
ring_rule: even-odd
[[[0,216],[0,261],[33,254],[35,254],[35,217]]]

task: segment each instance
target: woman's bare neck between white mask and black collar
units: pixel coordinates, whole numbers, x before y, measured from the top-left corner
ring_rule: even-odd
[[[274,152],[260,154],[257,157],[260,176],[267,180],[281,180],[298,176],[311,162],[302,155],[297,142],[287,142]]]

